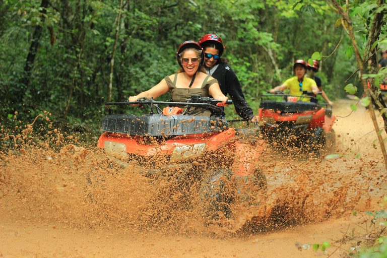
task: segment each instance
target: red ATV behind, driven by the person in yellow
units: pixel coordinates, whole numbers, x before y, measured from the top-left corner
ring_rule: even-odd
[[[305,98],[316,100],[314,94],[307,91],[297,96],[281,91],[264,94],[259,111],[263,121],[261,133],[269,142],[301,148],[317,155],[321,151],[334,151],[336,137],[332,125],[336,117],[332,116],[332,108],[327,108],[328,104],[300,101]]]

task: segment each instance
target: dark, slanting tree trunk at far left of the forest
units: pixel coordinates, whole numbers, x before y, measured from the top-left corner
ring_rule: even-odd
[[[40,9],[41,9],[40,14],[42,14],[40,15],[41,23],[44,23],[44,20],[45,20],[44,15],[47,13],[47,6],[48,6],[48,1],[42,0],[42,3],[40,5]],[[31,46],[27,55],[26,64],[24,66],[24,73],[22,77],[22,84],[24,84],[26,87],[25,94],[22,98],[18,99],[17,101],[22,102],[25,96],[29,95],[31,70],[34,67],[34,61],[36,57],[36,52],[38,51],[38,48],[39,48],[39,40],[42,35],[42,31],[43,31],[43,27],[37,24],[35,26],[34,34],[32,35]]]

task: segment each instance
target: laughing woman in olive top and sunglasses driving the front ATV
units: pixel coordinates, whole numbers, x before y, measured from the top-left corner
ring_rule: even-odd
[[[166,76],[159,84],[150,90],[137,96],[129,97],[129,101],[137,101],[139,98],[153,97],[154,99],[171,91],[172,101],[185,102],[192,94],[201,97],[213,97],[224,103],[228,98],[221,92],[218,81],[206,74],[203,69],[204,53],[202,47],[195,41],[183,42],[177,51],[177,62],[180,70],[176,74]],[[211,115],[206,110],[203,115]]]

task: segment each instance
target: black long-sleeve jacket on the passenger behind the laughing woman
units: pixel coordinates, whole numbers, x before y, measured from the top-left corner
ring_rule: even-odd
[[[218,68],[213,74],[211,73],[211,76],[218,80],[222,93],[225,96],[227,96],[227,94],[230,96],[238,115],[245,120],[251,120],[253,111],[244,99],[239,80],[231,67],[227,63],[219,63]]]

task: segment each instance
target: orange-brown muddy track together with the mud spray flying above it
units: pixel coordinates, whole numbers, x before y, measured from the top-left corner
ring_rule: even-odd
[[[348,115],[349,105],[338,102],[334,114]],[[47,114],[37,119],[49,123]],[[0,153],[0,257],[298,257],[295,242],[340,238],[349,214],[377,209],[386,192],[363,107],[334,125],[339,158],[278,155],[269,146],[259,161],[267,188],[254,192],[254,205],[235,203],[234,217],[210,220],[195,178],[203,175],[181,182],[176,167],[144,176],[138,162],[121,167],[54,128],[32,141],[38,130],[2,131],[18,146]]]

